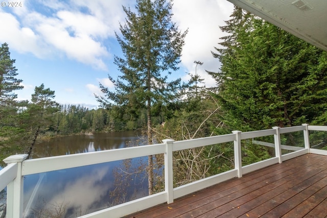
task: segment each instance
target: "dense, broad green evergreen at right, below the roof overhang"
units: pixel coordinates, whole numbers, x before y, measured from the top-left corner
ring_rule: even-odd
[[[236,13],[238,12],[238,13]],[[219,84],[224,123],[233,130],[311,123],[327,103],[326,53],[236,9],[221,29]]]

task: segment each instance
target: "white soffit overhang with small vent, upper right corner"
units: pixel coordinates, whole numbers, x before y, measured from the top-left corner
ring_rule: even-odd
[[[327,0],[227,0],[327,51]]]

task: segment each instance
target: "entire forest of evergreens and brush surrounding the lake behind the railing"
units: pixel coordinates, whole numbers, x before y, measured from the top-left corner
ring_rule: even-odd
[[[123,7],[126,23],[116,38],[124,56],[114,57],[122,76],[100,84],[101,108],[58,105],[55,92],[35,87],[29,102],[18,102],[21,89],[8,44],[0,49],[0,158],[31,153],[40,136],[144,129],[148,143],[193,139],[303,123],[327,125],[327,53],[238,7],[213,47],[221,67],[207,71],[216,87],[206,88],[198,74],[168,81],[178,70],[184,37],[172,22],[172,1],[137,0],[136,11]],[[209,33],[207,33],[209,34]],[[202,60],[196,60],[201,67]],[[203,60],[205,61],[205,60]],[[24,69],[22,69],[24,70]],[[290,143],[294,143],[290,141]],[[242,148],[244,163],[272,155],[251,143]],[[186,151],[185,151],[186,152]],[[232,168],[231,144],[179,153],[176,184]],[[149,156],[149,193],[160,184]],[[194,165],[192,165],[194,164]],[[187,175],[187,176],[185,176]]]

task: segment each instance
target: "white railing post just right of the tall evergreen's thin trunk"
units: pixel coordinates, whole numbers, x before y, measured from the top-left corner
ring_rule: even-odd
[[[167,193],[167,203],[174,202],[174,184],[173,184],[173,139],[164,139],[166,144],[165,153],[165,191]]]

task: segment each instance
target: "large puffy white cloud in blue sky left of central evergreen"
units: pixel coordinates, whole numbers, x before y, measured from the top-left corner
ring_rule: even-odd
[[[34,11],[34,5],[29,2],[23,2],[24,10],[14,13],[0,9],[0,42],[38,58],[64,54],[69,59],[107,70],[104,60],[111,55],[103,41],[114,38],[119,21],[125,17],[122,4],[126,2],[42,0],[38,7],[42,7],[43,14]]]

